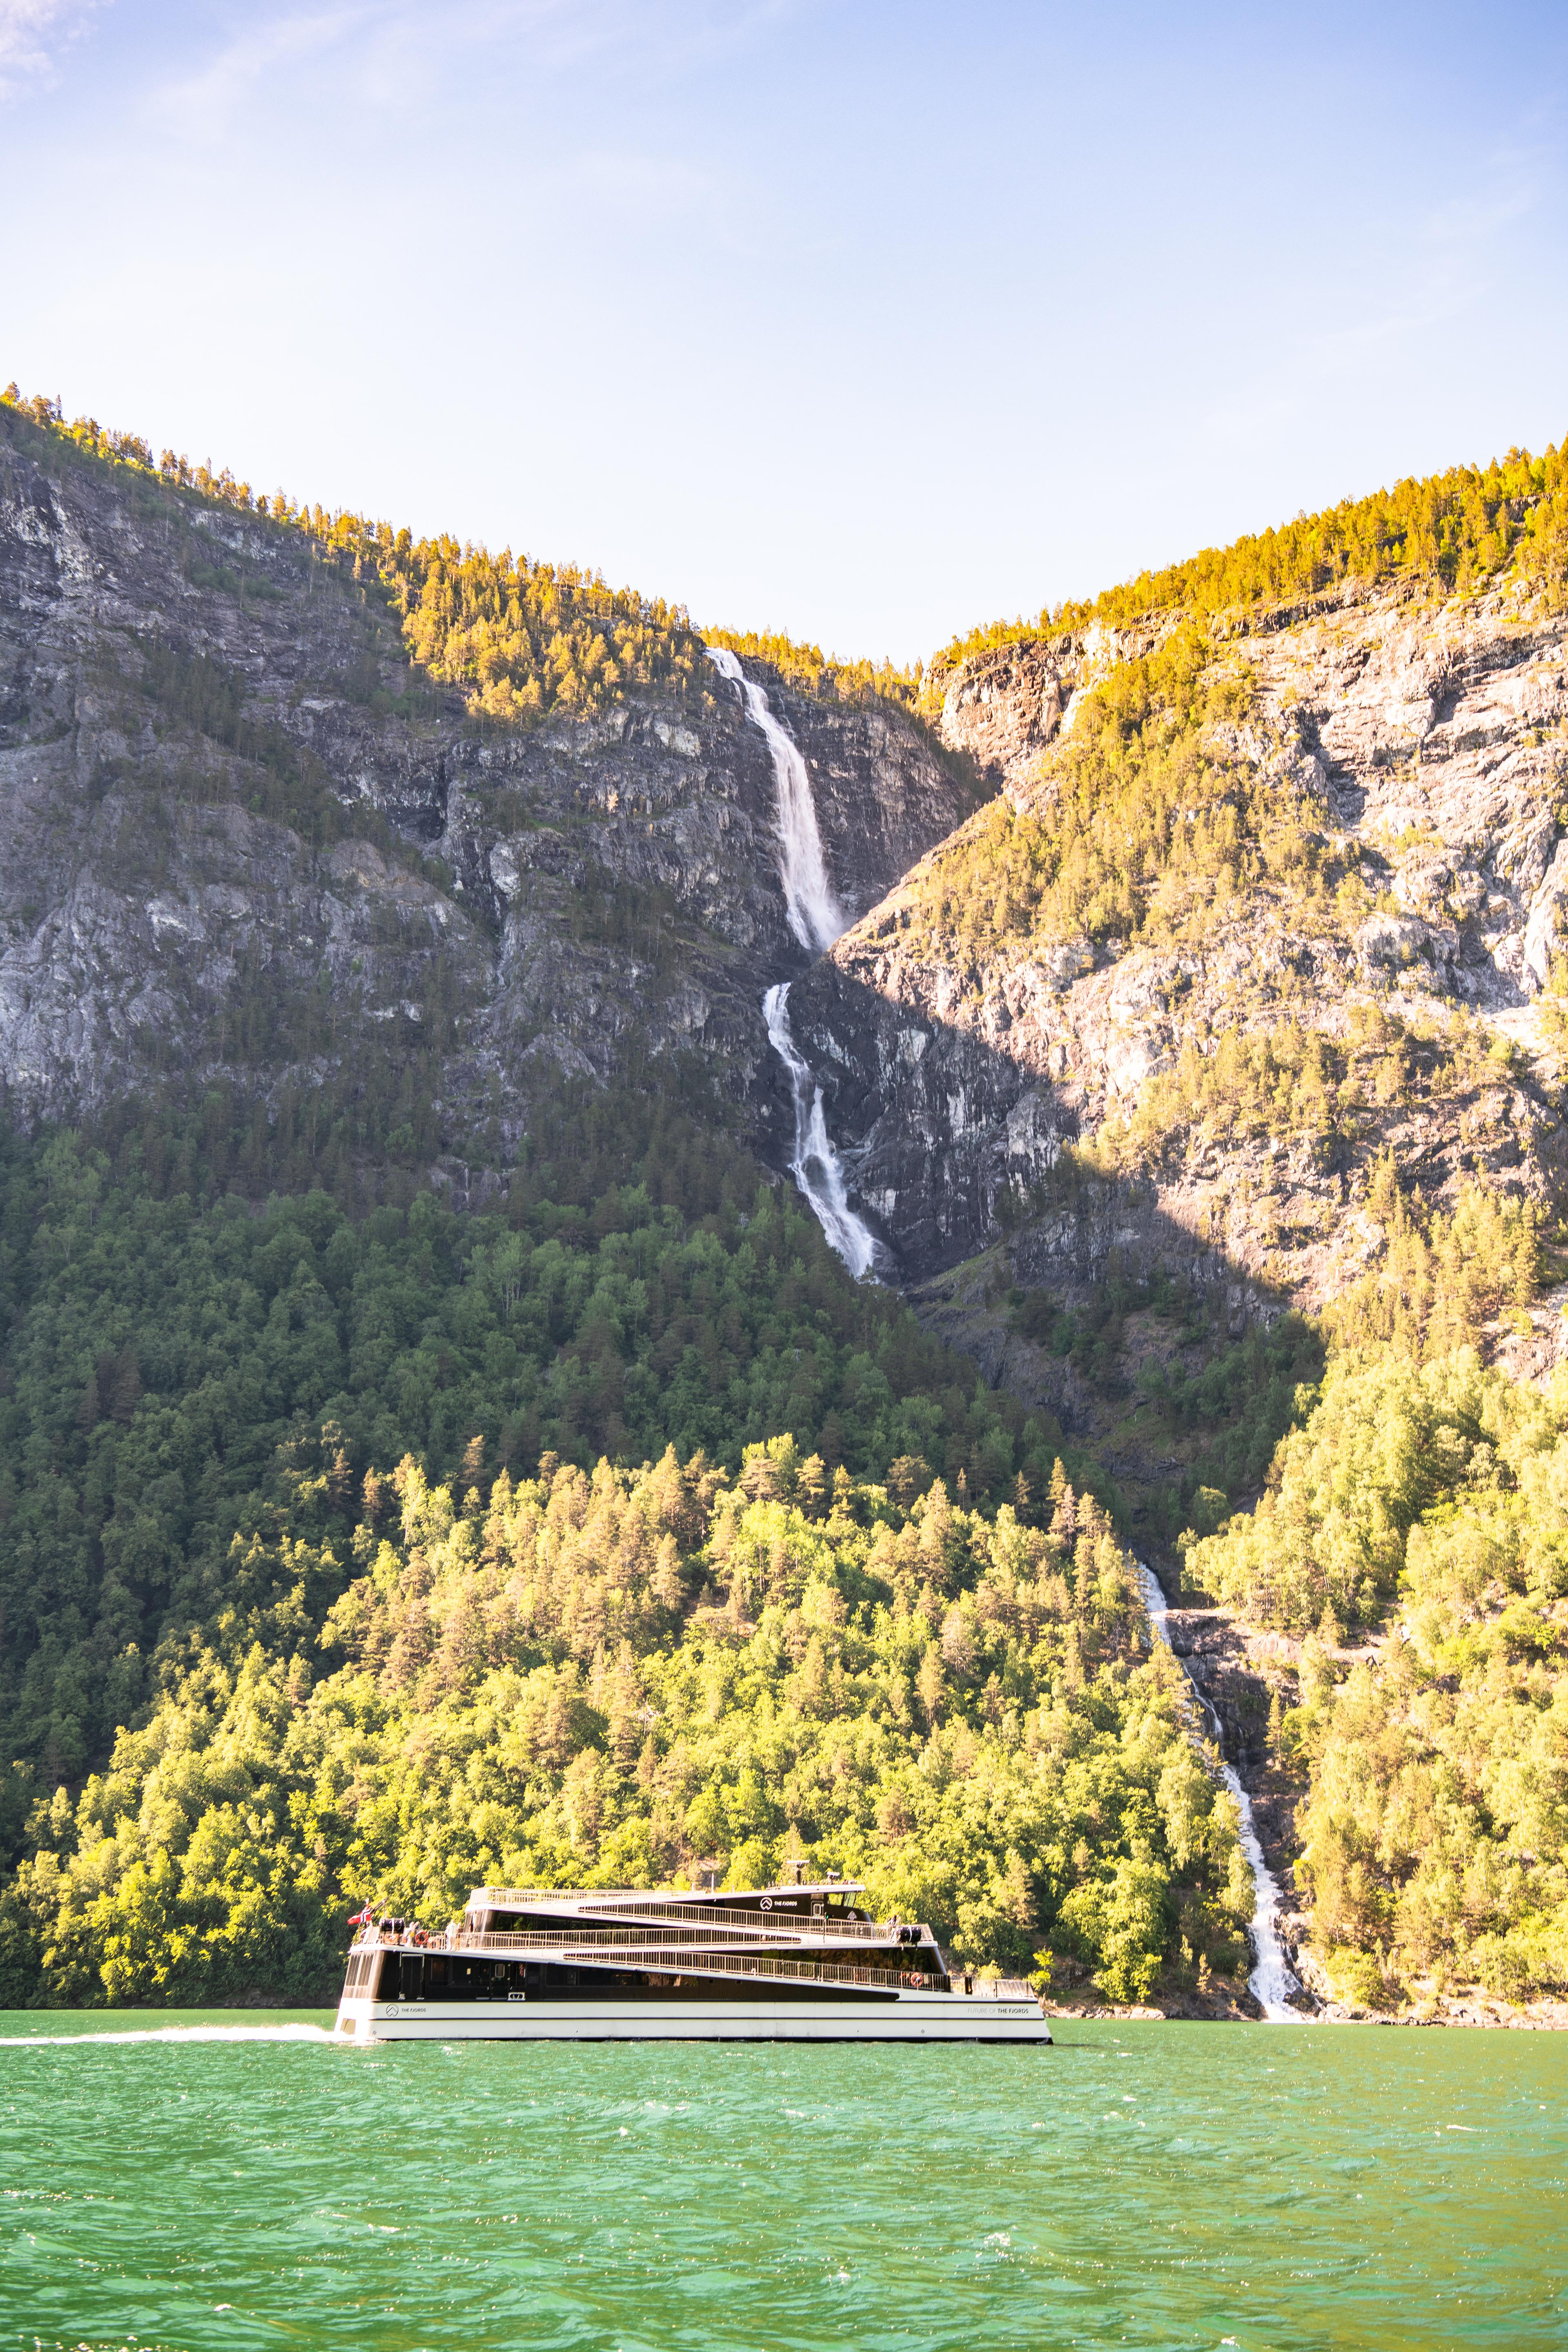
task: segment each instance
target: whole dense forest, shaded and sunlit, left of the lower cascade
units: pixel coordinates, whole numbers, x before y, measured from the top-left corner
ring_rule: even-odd
[[[364,1896],[745,1884],[790,1835],[983,1964],[1239,1964],[1234,1823],[1060,1432],[738,1148],[656,1120],[496,1214],[160,1164],[5,1143],[9,1997],[315,1992]]]

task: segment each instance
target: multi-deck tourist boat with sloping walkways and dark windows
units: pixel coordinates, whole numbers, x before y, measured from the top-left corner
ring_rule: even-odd
[[[757,1893],[475,1886],[440,1933],[369,1919],[353,2042],[1051,2042],[1018,1978],[954,1969],[858,1882]]]

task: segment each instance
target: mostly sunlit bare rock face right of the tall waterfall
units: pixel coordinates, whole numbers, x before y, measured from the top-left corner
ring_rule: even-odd
[[[945,727],[1030,809],[1072,694],[1140,649],[983,654],[950,680]],[[1535,995],[1568,898],[1563,619],[1502,597],[1361,595],[1239,652],[1251,710],[1215,755],[1295,797],[1349,877],[1328,910],[1253,887],[1180,948],[1037,936],[943,962],[910,943],[936,851],[795,985],[795,1037],[825,1080],[856,1202],[905,1277],[983,1249],[1032,1197],[1011,1242],[1018,1282],[1072,1296],[1112,1263],[1164,1265],[1225,1284],[1227,1319],[1244,1322],[1267,1298],[1316,1303],[1363,1268],[1345,1207],[1385,1143],[1429,1197],[1469,1171],[1505,1190],[1556,1183],[1556,1054]],[[1410,1033],[1450,1035],[1474,1014],[1500,1058],[1472,1068],[1462,1098],[1368,1105],[1354,1150],[1305,1136],[1218,1148],[1192,1131],[1180,1164],[1140,1183],[1084,1185],[1058,1167],[1067,1143],[1135,1117],[1182,1049],[1213,1054],[1225,1028],[1279,1021],[1335,1040],[1373,1007]]]

